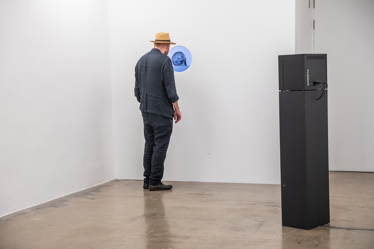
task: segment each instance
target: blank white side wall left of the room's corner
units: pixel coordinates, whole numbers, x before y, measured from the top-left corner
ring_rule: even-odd
[[[107,1],[0,1],[0,217],[114,178]]]

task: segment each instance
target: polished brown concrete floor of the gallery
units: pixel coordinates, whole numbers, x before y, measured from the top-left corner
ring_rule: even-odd
[[[374,249],[374,173],[330,172],[331,227],[308,231],[282,227],[279,185],[165,183],[113,180],[1,217],[0,248]]]

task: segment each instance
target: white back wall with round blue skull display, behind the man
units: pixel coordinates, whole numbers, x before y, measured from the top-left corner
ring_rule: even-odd
[[[182,120],[164,180],[280,183],[278,55],[295,48],[295,2],[108,0],[116,178],[142,179],[134,67],[157,32],[185,46]]]

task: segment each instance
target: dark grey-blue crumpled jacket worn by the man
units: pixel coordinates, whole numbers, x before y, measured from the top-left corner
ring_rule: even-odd
[[[171,59],[159,49],[143,55],[135,66],[135,97],[140,111],[174,116],[172,103],[179,97],[175,88]]]

